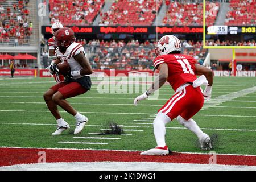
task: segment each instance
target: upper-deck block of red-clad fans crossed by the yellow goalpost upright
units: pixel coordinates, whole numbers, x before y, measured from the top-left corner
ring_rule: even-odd
[[[206,24],[213,24],[216,20],[220,4],[207,2]],[[201,26],[203,25],[203,3],[170,3],[163,25],[170,26]]]

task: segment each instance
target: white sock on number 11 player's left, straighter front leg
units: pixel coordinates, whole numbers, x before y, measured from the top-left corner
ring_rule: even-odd
[[[166,124],[170,121],[171,119],[166,114],[158,113],[158,115],[156,115],[154,120],[154,134],[158,147],[166,146]]]

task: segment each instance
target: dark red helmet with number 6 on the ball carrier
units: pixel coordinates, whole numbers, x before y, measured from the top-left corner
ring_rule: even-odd
[[[61,51],[66,50],[73,42],[76,41],[75,34],[71,28],[60,28],[54,35],[54,47]]]

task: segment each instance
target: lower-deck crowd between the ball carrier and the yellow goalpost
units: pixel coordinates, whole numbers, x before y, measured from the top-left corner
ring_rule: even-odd
[[[92,46],[94,45],[94,46]],[[155,58],[156,42],[139,43],[132,40],[125,43],[123,40],[110,42],[91,40],[85,46],[85,51],[90,55],[93,69],[150,69]],[[194,57],[203,64],[206,49],[203,42],[183,41],[182,52]]]

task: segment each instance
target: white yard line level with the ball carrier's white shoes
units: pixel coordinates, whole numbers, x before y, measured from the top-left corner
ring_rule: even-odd
[[[47,124],[47,123],[0,123],[0,125],[55,125],[56,124]],[[75,125],[70,125],[75,126]],[[102,126],[102,125],[86,125],[86,126],[92,126],[92,127],[108,127],[108,126]],[[123,127],[135,127],[135,128],[152,128],[152,126],[123,126]],[[167,129],[186,129],[185,127],[166,127]],[[226,130],[226,131],[256,131],[256,130],[249,130],[249,129],[216,129],[216,128],[201,128],[204,130]],[[108,130],[108,129],[100,129],[100,130]],[[123,131],[143,131],[143,130],[123,130]],[[92,134],[92,133],[91,133]],[[93,133],[98,134],[98,133]],[[130,135],[130,134],[127,134]]]

